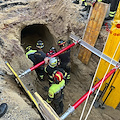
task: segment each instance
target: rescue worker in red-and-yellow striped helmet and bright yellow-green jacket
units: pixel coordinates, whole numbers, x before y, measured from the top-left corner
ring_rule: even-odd
[[[50,86],[48,91],[47,103],[52,103],[53,109],[59,115],[63,112],[63,89],[65,88],[65,80],[60,71],[54,71],[52,75],[54,83]]]

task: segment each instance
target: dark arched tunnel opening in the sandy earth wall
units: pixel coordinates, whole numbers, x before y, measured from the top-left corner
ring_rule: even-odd
[[[53,35],[43,24],[29,25],[21,31],[21,45],[24,50],[28,45],[31,45],[33,49],[36,49],[38,40],[44,42],[44,52],[48,52],[50,47],[55,45]]]

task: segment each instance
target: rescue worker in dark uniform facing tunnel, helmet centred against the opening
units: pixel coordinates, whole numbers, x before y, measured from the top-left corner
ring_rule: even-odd
[[[35,57],[35,65],[42,62],[44,60],[44,58],[46,57],[46,54],[43,52],[43,48],[44,48],[44,43],[39,40],[37,42],[37,51],[34,53],[34,57]],[[38,67],[37,69],[35,69],[38,79],[40,81],[44,80],[44,65],[41,65],[40,67]]]

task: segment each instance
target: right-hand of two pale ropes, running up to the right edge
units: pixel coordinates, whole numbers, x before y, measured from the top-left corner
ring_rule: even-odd
[[[110,61],[110,64],[109,64],[109,66],[108,66],[108,69],[107,69],[107,71],[106,71],[106,73],[105,73],[105,75],[104,75],[104,77],[103,77],[103,80],[102,80],[102,82],[101,82],[101,85],[100,85],[99,89],[97,90],[97,93],[96,93],[96,95],[95,95],[95,97],[94,97],[94,99],[93,99],[93,102],[92,102],[92,104],[91,104],[91,106],[90,106],[90,109],[89,109],[89,111],[88,111],[88,113],[87,113],[87,115],[86,115],[86,117],[85,117],[85,120],[87,120],[88,115],[89,115],[90,112],[91,112],[92,106],[93,106],[93,104],[94,104],[94,102],[95,102],[95,100],[96,100],[96,98],[97,98],[97,96],[98,96],[98,93],[99,93],[99,91],[100,91],[100,88],[101,88],[101,86],[102,86],[102,84],[103,84],[103,81],[104,81],[104,79],[105,79],[106,74],[108,73],[108,70],[109,70],[110,65],[111,65],[111,63],[112,63],[112,61],[113,61],[113,58],[114,58],[115,55],[116,55],[116,52],[117,52],[117,50],[118,50],[119,45],[120,45],[120,42],[119,42],[119,44],[118,44],[118,46],[117,46],[117,48],[116,48],[116,50],[115,50],[115,53],[114,53],[114,55],[113,55],[113,57],[112,57],[112,59],[111,59],[111,61]]]

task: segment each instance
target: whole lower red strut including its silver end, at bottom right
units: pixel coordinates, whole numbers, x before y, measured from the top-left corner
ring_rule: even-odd
[[[117,68],[119,68],[120,66],[116,66],[115,68],[113,68],[105,77],[104,80],[103,78],[92,87],[92,89],[90,91],[88,91],[86,94],[84,94],[74,105],[72,105],[71,107],[68,108],[68,110],[60,117],[60,120],[64,120],[70,113],[72,113],[81,103],[83,103],[85,101],[85,99],[87,98],[87,96],[91,95],[102,83],[102,81],[104,82],[108,77],[110,77],[116,70]]]

